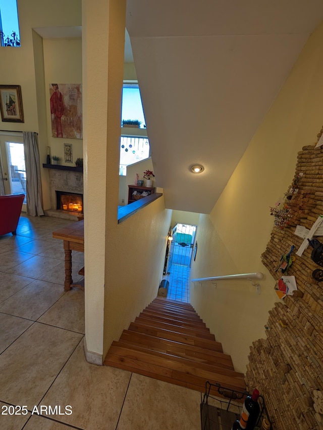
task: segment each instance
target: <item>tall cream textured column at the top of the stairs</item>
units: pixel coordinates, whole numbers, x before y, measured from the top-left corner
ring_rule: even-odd
[[[115,10],[122,11],[116,23]],[[104,286],[107,235],[107,186],[118,184],[118,160],[111,169],[110,147],[118,148],[121,93],[116,89],[113,55],[115,34],[123,34],[119,48],[123,65],[125,1],[82,0],[84,238],[85,238],[85,351],[87,360],[101,364],[103,353]],[[120,53],[119,53],[120,57]],[[122,72],[118,82],[121,81]],[[108,109],[109,105],[109,109]],[[109,117],[109,123],[108,123]],[[118,137],[119,134],[119,137]],[[109,136],[109,139],[108,139]],[[115,153],[115,151],[114,151]],[[116,163],[115,156],[113,157]],[[107,169],[109,164],[109,169]],[[113,199],[115,200],[115,199]],[[118,208],[116,190],[115,213]],[[117,222],[117,215],[116,215]]]

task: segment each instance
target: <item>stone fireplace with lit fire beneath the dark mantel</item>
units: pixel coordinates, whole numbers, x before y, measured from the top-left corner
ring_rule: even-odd
[[[55,166],[49,171],[50,209],[48,217],[75,220],[83,214],[83,172],[75,167]]]

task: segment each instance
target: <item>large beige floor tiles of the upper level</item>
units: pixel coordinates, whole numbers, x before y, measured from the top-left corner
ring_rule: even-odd
[[[84,292],[64,291],[51,237],[69,223],[22,216],[0,236],[0,429],[198,430],[199,393],[86,362]],[[83,263],[73,251],[74,281]]]

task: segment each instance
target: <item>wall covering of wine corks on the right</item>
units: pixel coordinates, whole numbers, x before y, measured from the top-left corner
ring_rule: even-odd
[[[295,177],[286,193],[288,221],[283,228],[273,228],[261,255],[276,281],[282,276],[281,256],[303,242],[294,234],[296,226],[310,229],[323,214],[323,147],[315,146],[316,142],[298,153]],[[291,193],[295,188],[298,191]],[[323,237],[317,239],[323,242]],[[250,348],[247,386],[249,391],[259,389],[277,430],[323,428],[313,400],[323,391],[323,281],[312,278],[320,266],[311,260],[311,251],[308,246],[302,256],[294,253],[288,275],[295,276],[298,290],[276,303],[269,312],[266,338]]]

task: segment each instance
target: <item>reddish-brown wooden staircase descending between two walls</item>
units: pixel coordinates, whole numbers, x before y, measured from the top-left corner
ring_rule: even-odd
[[[205,382],[244,391],[243,373],[187,303],[157,297],[113,341],[104,365],[118,367],[199,392]]]

